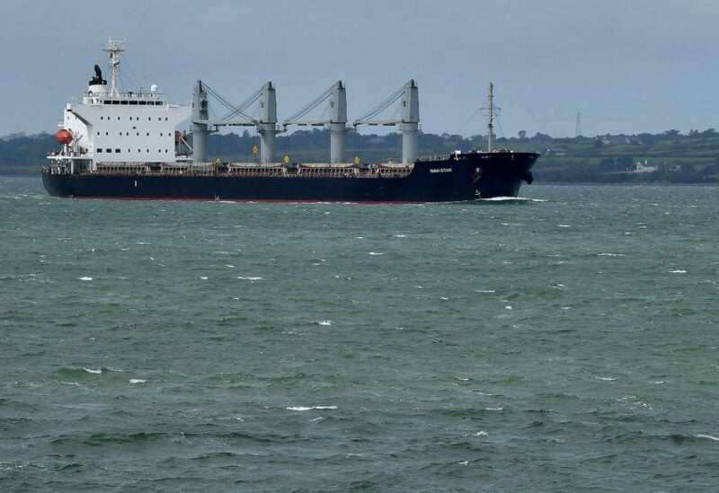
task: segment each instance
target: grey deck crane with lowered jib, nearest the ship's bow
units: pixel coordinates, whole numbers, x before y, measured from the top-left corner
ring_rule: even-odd
[[[399,100],[402,100],[402,116],[399,119],[375,119]],[[354,128],[359,125],[398,125],[402,132],[402,163],[414,163],[417,159],[417,134],[420,128],[420,99],[414,79],[410,79],[367,114],[354,120]]]

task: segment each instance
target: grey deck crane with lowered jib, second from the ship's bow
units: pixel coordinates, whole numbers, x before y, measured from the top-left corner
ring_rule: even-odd
[[[326,119],[306,119],[307,113],[315,110],[324,101],[329,101],[329,116]],[[285,119],[282,126],[287,130],[289,125],[330,128],[330,163],[344,163],[344,137],[347,134],[347,95],[342,81],[337,81],[322,94],[310,101],[302,110]]]

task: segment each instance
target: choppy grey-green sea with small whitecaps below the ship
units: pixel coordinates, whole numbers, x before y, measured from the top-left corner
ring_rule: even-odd
[[[385,207],[0,179],[0,489],[715,490],[718,192]]]

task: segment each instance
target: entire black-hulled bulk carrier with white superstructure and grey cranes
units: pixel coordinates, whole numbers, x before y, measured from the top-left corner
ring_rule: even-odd
[[[342,81],[278,125],[274,85],[269,82],[240,106],[198,81],[191,105],[169,104],[153,84],[149,92],[120,92],[123,41],[111,40],[111,85],[94,66],[82,102],[67,103],[56,138],[61,148],[49,154],[42,182],[50,195],[67,198],[250,200],[310,202],[417,203],[517,197],[531,183],[539,154],[493,149],[493,88],[488,96],[488,149],[455,151],[444,157],[417,157],[419,96],[413,80],[380,103],[360,125],[395,125],[402,133],[401,163],[345,162],[347,102]],[[209,94],[230,110],[210,119]],[[399,102],[397,119],[377,119]],[[328,118],[303,119],[326,102]],[[258,116],[246,113],[258,106]],[[191,139],[177,128],[190,119]],[[289,125],[329,128],[329,163],[275,161],[275,139]],[[208,157],[209,135],[223,126],[256,128],[259,146],[253,163],[225,163]]]

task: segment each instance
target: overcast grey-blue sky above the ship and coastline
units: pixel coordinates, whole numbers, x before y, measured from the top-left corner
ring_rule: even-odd
[[[240,102],[271,80],[287,118],[336,80],[355,119],[410,78],[426,132],[504,136],[719,128],[717,0],[3,0],[0,136],[54,132],[102,45],[173,102],[197,79]],[[109,79],[109,74],[106,76]],[[222,114],[223,111],[217,109]],[[468,123],[467,120],[469,120]],[[369,132],[369,129],[365,129]]]

